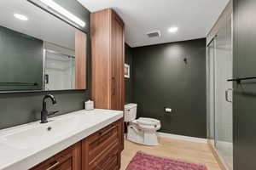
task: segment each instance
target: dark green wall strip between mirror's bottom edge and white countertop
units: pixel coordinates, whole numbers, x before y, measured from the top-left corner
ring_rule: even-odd
[[[60,111],[57,115],[84,109],[88,92],[55,92],[56,105],[50,102],[49,111]],[[44,93],[0,94],[0,129],[14,127],[40,119]]]

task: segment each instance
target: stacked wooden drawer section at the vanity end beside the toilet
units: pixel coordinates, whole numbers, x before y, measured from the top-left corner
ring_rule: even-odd
[[[83,170],[114,170],[120,167],[123,120],[113,122],[82,141]]]

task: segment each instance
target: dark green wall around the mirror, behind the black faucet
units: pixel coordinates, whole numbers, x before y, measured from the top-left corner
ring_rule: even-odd
[[[86,8],[74,0],[60,1],[59,4],[67,10],[75,11],[74,14],[83,16],[83,20],[87,23],[86,29],[89,30],[90,12]],[[87,66],[90,75],[90,50],[88,51]],[[90,76],[87,79],[88,85],[89,82]],[[90,87],[86,91],[50,92],[55,95],[57,105],[49,105],[49,111],[60,110],[59,114],[65,114],[69,111],[81,110],[84,108],[84,100],[89,99],[89,92]],[[0,94],[0,129],[38,120],[44,94],[46,93]]]

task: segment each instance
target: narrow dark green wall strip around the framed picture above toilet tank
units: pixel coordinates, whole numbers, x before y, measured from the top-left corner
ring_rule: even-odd
[[[132,103],[132,48],[125,44],[125,64],[130,65],[130,78],[125,78],[125,104]]]

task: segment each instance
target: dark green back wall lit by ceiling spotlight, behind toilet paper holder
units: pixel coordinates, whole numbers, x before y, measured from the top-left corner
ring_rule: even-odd
[[[206,39],[133,48],[132,54],[138,116],[159,119],[160,132],[207,138]]]

